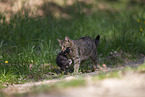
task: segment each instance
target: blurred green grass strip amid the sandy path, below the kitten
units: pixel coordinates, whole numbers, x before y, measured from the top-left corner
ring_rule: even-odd
[[[67,88],[74,88],[79,86],[85,86],[86,81],[84,79],[73,79],[70,81],[58,81],[55,83],[49,83],[49,84],[40,84],[39,86],[31,87],[30,92],[28,93],[21,93],[21,94],[15,94],[15,95],[33,95],[38,93],[54,93],[54,91],[61,91],[61,89],[67,89]]]

